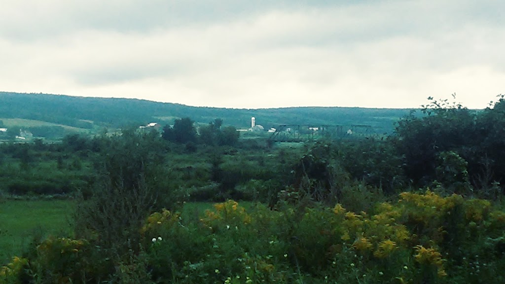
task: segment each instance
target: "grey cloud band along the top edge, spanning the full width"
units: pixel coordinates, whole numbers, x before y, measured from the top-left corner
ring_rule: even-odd
[[[444,3],[449,3],[446,5]],[[412,32],[464,21],[482,21],[486,25],[500,23],[497,11],[505,4],[493,1],[178,1],[178,0],[115,0],[115,1],[19,1],[0,11],[0,34],[21,40],[64,36],[76,30],[112,30],[145,32],[153,29],[177,28],[237,21],[269,11],[311,13],[317,10],[336,11],[334,23],[355,19],[346,31],[373,36]],[[447,8],[447,6],[450,6]],[[453,7],[459,7],[454,9]],[[447,9],[446,9],[447,8]],[[341,11],[339,13],[339,11]],[[474,13],[477,11],[477,13]],[[317,19],[316,19],[317,20]],[[334,25],[329,23],[329,25]],[[337,25],[338,26],[338,25]],[[368,31],[368,33],[367,33]],[[339,31],[335,31],[339,35]],[[347,37],[345,33],[344,38]]]

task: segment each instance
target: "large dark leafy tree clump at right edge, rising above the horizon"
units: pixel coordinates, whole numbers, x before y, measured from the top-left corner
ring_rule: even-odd
[[[479,113],[460,104],[432,100],[423,109],[426,116],[400,120],[394,143],[405,174],[416,186],[440,184],[464,195],[501,194],[504,108],[503,96]]]

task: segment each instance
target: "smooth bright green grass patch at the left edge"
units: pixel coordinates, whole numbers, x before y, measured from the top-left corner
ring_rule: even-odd
[[[0,264],[21,254],[34,238],[71,234],[73,208],[66,200],[0,201]]]

